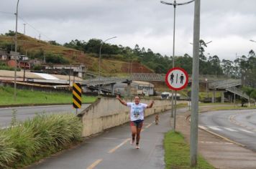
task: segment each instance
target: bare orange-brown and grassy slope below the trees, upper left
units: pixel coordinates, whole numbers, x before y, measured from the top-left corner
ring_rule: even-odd
[[[0,48],[14,51],[14,37],[1,35]],[[44,55],[54,56],[58,57],[58,59],[64,59],[67,64],[83,63],[88,68],[88,71],[95,72],[96,74],[99,71],[99,54],[86,54],[76,49],[53,45],[32,37],[24,36],[23,34],[18,34],[17,50],[21,54],[27,53],[30,59],[43,59]],[[105,76],[127,75],[129,62],[116,59],[104,59],[104,54],[101,54],[101,58],[101,72]],[[145,65],[134,61],[132,62],[132,72],[150,73],[153,71],[145,67]]]

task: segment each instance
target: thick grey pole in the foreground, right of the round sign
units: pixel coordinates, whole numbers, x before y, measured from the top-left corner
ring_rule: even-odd
[[[193,21],[193,72],[191,104],[191,167],[197,165],[198,148],[198,90],[199,90],[199,39],[200,39],[200,0],[195,1]]]

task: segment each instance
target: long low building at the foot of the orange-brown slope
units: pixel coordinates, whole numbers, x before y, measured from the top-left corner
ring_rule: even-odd
[[[72,74],[73,76],[83,78],[86,74],[86,66],[84,64],[42,64],[45,72]]]

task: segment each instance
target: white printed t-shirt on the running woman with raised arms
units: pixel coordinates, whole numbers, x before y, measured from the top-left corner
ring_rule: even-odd
[[[147,105],[144,103],[139,103],[136,105],[134,102],[127,102],[127,107],[130,107],[130,120],[144,120],[144,110]]]

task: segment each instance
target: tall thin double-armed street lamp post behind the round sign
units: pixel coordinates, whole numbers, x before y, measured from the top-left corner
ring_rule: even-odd
[[[173,67],[174,67],[174,54],[175,54],[175,16],[176,16],[176,6],[180,6],[180,5],[186,5],[186,4],[190,4],[191,2],[193,2],[194,0],[192,1],[188,1],[188,2],[184,2],[184,3],[180,3],[178,4],[176,2],[176,0],[174,0],[173,3],[168,3],[168,2],[165,2],[165,1],[160,1],[162,4],[165,4],[165,5],[172,5],[173,8],[174,8],[174,15],[173,15]],[[174,104],[173,104],[173,90],[172,90],[172,114],[171,114],[171,117],[173,117],[173,107],[174,107]],[[176,100],[176,97],[175,97],[175,100]]]

